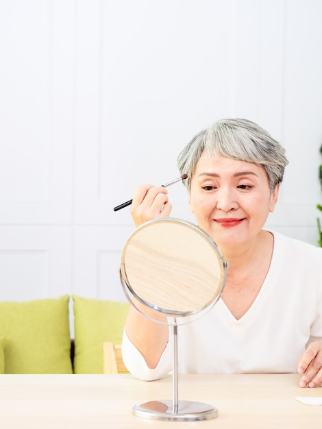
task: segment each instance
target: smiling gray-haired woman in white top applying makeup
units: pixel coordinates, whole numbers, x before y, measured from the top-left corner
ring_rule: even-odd
[[[301,387],[322,383],[322,249],[264,230],[277,203],[283,147],[245,119],[217,121],[179,154],[190,209],[228,262],[216,305],[180,326],[180,373],[296,372]],[[169,217],[162,186],[136,189],[136,226]],[[123,359],[143,380],[171,370],[169,328],[131,308]]]

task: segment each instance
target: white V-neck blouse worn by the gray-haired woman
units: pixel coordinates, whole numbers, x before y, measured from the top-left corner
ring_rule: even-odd
[[[179,373],[296,372],[312,341],[322,341],[322,249],[273,232],[267,278],[236,320],[220,298],[201,319],[178,326]],[[172,369],[172,339],[155,369],[123,334],[127,369],[156,380]]]

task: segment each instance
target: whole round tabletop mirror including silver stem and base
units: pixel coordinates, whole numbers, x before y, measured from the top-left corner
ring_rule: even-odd
[[[153,219],[127,238],[120,266],[125,296],[150,321],[171,326],[173,334],[172,400],[135,405],[134,415],[163,421],[210,420],[218,416],[212,405],[178,400],[177,328],[197,320],[214,306],[226,274],[227,262],[216,243],[192,223]],[[161,314],[166,319],[160,321],[145,309],[155,310],[155,316]]]

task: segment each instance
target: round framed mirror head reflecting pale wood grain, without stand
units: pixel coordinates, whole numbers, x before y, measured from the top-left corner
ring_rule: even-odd
[[[177,318],[203,312],[219,299],[226,264],[201,228],[162,218],[144,223],[129,236],[120,271],[132,304],[134,297],[158,313]]]

